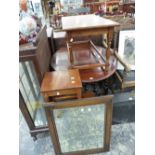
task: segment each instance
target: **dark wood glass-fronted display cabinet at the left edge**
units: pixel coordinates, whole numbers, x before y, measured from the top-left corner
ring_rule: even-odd
[[[39,102],[39,86],[41,85],[44,74],[50,71],[50,61],[52,54],[46,28],[46,26],[42,26],[33,42],[19,46],[19,62],[20,66],[23,68],[23,70],[19,70],[20,80],[22,81],[22,84],[20,84],[22,87],[19,89],[19,107],[30,129],[30,134],[34,137],[34,139],[36,139],[36,135],[38,133],[48,131],[46,125],[38,126],[35,123],[36,119],[32,117],[31,111],[29,109],[31,105],[35,106],[35,104]],[[24,72],[24,74],[21,72]],[[27,79],[28,83],[26,83]],[[29,89],[31,90],[32,94],[29,94]],[[33,96],[34,99],[32,98]],[[40,115],[42,115],[42,110],[42,107],[38,106],[33,108],[33,113],[41,113]],[[39,120],[39,122],[44,122],[43,117],[41,118],[41,121]]]

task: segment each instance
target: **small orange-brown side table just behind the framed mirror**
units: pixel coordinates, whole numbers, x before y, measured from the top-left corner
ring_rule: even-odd
[[[49,97],[75,95],[81,98],[82,82],[78,69],[47,72],[41,85],[41,93],[45,102]]]

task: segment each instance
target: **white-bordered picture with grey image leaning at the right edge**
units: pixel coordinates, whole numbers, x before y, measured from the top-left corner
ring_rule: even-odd
[[[135,30],[120,31],[118,54],[131,70],[135,70]],[[117,69],[124,69],[120,62],[118,62]]]

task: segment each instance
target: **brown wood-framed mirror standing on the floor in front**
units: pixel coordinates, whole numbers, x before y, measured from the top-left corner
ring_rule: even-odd
[[[61,155],[87,155],[109,151],[113,111],[112,98],[113,95],[107,95],[78,100],[44,103],[49,133],[51,135],[55,153]],[[63,111],[61,118],[57,118],[55,110]],[[98,115],[98,111],[96,112],[97,115],[93,113],[94,110],[100,110],[102,117]],[[75,115],[75,111],[78,111],[78,117]],[[81,112],[81,114],[79,112]],[[88,113],[91,113],[91,115]],[[84,114],[85,116],[82,117]],[[69,123],[66,121],[65,123],[62,123],[63,117],[66,116],[69,117],[65,118],[65,120],[73,118],[74,120]],[[92,120],[92,117],[90,116],[100,120],[98,125],[96,125],[97,127],[95,130],[92,130],[95,121]],[[80,117],[82,117],[82,119]],[[88,117],[89,121],[85,121],[85,117]],[[102,120],[104,120],[103,123],[101,123]],[[86,128],[87,124],[89,124],[91,130]],[[68,129],[64,130],[64,127],[60,127],[60,125],[66,126]],[[82,125],[82,127],[79,127],[79,125]],[[99,129],[102,129],[103,132],[100,132]],[[81,131],[82,133],[79,135],[77,132]],[[98,135],[96,140],[94,140],[92,136],[89,136],[90,133],[95,133],[95,137]],[[66,135],[64,141],[62,140],[63,134]],[[86,138],[85,136],[89,136],[89,138]],[[73,137],[75,138],[74,142],[70,141]],[[68,140],[68,138],[70,139]],[[94,145],[96,143],[97,145]],[[66,146],[64,147],[63,145]]]

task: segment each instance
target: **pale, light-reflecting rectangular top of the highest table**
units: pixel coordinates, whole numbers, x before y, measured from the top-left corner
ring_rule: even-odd
[[[62,17],[62,29],[64,31],[75,29],[115,27],[119,25],[120,24],[115,21],[105,19],[94,14]]]

